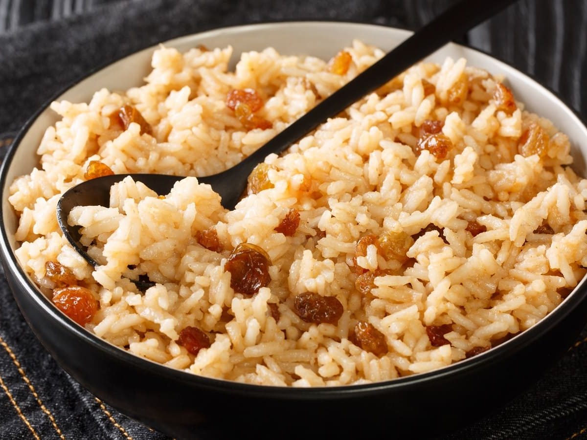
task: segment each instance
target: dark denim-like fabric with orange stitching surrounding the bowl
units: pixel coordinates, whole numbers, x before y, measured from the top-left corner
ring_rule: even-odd
[[[0,0],[0,154],[33,111],[87,69],[220,26],[338,19],[417,28],[450,0]],[[558,90],[583,116],[587,2],[527,0],[465,41]],[[527,392],[445,439],[587,438],[587,330]],[[0,439],[163,439],[97,401],[33,336],[0,269]],[[480,396],[480,398],[482,398]],[[441,402],[423,402],[433,411]]]

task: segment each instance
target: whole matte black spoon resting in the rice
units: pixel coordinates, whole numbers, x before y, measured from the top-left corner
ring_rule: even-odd
[[[411,65],[441,48],[450,40],[463,35],[469,29],[474,28],[515,1],[517,0],[493,0],[491,2],[463,0],[458,2],[387,53],[373,66],[357,75],[355,79],[285,128],[284,131],[276,134],[268,143],[245,158],[241,163],[218,174],[198,177],[198,181],[211,185],[212,189],[220,194],[222,206],[227,209],[234,208],[247,185],[249,174],[257,164],[265,160],[267,155],[281,153],[299,138],[325,122],[329,117],[333,117],[340,111],[345,110],[367,93],[383,86],[383,84]],[[57,205],[59,227],[73,248],[92,266],[96,266],[97,262],[87,255],[85,247],[79,242],[79,226],[68,225],[69,212],[73,207],[79,205],[102,205],[107,207],[110,199],[110,187],[129,175],[133,180],[143,182],[157,194],[162,195],[167,194],[178,180],[184,178],[183,176],[163,174],[109,175],[82,182],[66,191],[59,199]],[[153,285],[151,282],[136,281],[135,283],[139,288]]]

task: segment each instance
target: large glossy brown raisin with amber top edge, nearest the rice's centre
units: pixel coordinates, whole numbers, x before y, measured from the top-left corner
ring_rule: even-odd
[[[262,248],[241,243],[228,257],[224,270],[230,272],[230,286],[235,292],[253,295],[271,281],[269,266],[271,259]]]

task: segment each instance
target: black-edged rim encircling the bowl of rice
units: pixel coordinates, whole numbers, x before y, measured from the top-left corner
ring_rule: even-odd
[[[61,96],[63,93],[67,92],[72,87],[76,86],[76,84],[82,82],[83,80],[87,79],[88,77],[94,75],[100,70],[105,69],[106,67],[120,62],[127,57],[131,57],[136,55],[143,50],[151,50],[156,49],[158,45],[170,45],[176,44],[183,39],[191,39],[194,37],[206,38],[208,36],[214,36],[215,33],[222,33],[222,32],[234,32],[239,33],[243,31],[248,31],[250,29],[261,29],[264,28],[272,28],[278,25],[289,25],[289,26],[307,26],[307,25],[320,25],[320,26],[357,26],[357,27],[376,27],[376,28],[387,28],[392,31],[404,33],[406,38],[411,35],[411,31],[402,28],[396,28],[395,26],[386,26],[377,23],[369,23],[369,22],[352,22],[352,21],[337,21],[337,20],[328,20],[325,21],[323,19],[306,19],[306,20],[292,20],[292,21],[268,21],[268,22],[259,22],[247,25],[235,25],[235,26],[226,26],[222,28],[215,28],[209,29],[203,32],[196,32],[196,33],[188,33],[185,35],[178,36],[177,38],[173,38],[170,40],[166,40],[161,43],[157,43],[155,45],[146,45],[141,49],[134,50],[131,53],[127,53],[126,55],[116,57],[114,59],[107,60],[104,63],[100,63],[99,65],[92,67],[86,70],[85,73],[77,77],[76,79],[72,80],[66,84],[66,86],[62,87],[58,92],[52,94],[48,100],[46,100],[41,106],[26,120],[25,124],[23,124],[22,128],[18,130],[18,133],[14,137],[12,144],[9,147],[9,151],[6,152],[4,161],[2,163],[2,167],[0,168],[0,189],[2,193],[4,193],[7,184],[11,182],[7,182],[7,175],[9,168],[11,168],[12,160],[14,158],[14,154],[16,149],[18,148],[19,144],[21,143],[23,137],[28,132],[29,128],[35,123],[38,117],[50,106],[50,103]],[[484,50],[471,48],[468,45],[463,45],[460,43],[448,43],[448,45],[456,45],[460,46],[461,48],[465,48],[467,50],[472,50],[474,52],[478,52],[481,55],[490,57],[492,62],[495,62],[496,65],[501,67],[505,67],[506,69],[512,69],[515,72],[518,72],[520,75],[524,76],[533,88],[543,89],[547,94],[551,95],[550,98],[554,100],[558,100],[566,109],[568,109],[572,117],[575,119],[575,123],[578,123],[579,126],[585,132],[587,137],[587,128],[585,121],[583,121],[582,117],[579,115],[578,111],[576,111],[573,106],[566,103],[564,99],[562,99],[558,93],[552,90],[548,86],[544,86],[538,82],[534,75],[531,73],[521,72],[520,70],[516,69],[514,66],[511,66],[509,63],[504,62],[503,60],[495,57],[494,55],[490,55],[489,53],[485,52]],[[581,282],[573,289],[571,293],[565,299],[555,307],[552,312],[548,313],[544,318],[542,318],[538,323],[534,324],[534,326],[530,327],[527,330],[521,331],[520,333],[516,334],[510,340],[505,341],[504,343],[500,344],[499,346],[493,347],[484,353],[478,354],[477,356],[471,357],[469,359],[465,359],[459,361],[454,364],[447,365],[445,367],[438,368],[436,370],[428,371],[426,373],[417,373],[413,375],[407,375],[403,377],[397,377],[390,380],[379,381],[374,383],[366,383],[366,384],[354,384],[354,385],[336,385],[336,386],[324,386],[324,387],[309,387],[309,388],[298,388],[298,387],[278,387],[272,385],[257,385],[257,384],[247,384],[247,383],[239,383],[237,381],[221,379],[221,378],[211,378],[202,375],[197,375],[194,373],[190,373],[184,370],[178,370],[173,367],[168,367],[163,364],[156,363],[151,361],[147,358],[143,358],[137,356],[136,354],[130,353],[129,351],[123,350],[120,347],[114,346],[113,344],[107,342],[106,340],[101,339],[100,337],[96,336],[96,334],[92,333],[89,330],[86,330],[84,327],[76,324],[74,321],[70,320],[64,313],[60,312],[50,300],[42,294],[41,290],[32,282],[31,278],[24,272],[21,265],[19,265],[18,260],[16,259],[16,255],[12,252],[12,246],[10,240],[8,238],[8,234],[6,233],[6,226],[4,225],[4,207],[0,204],[0,217],[2,219],[2,224],[0,225],[0,254],[2,255],[2,259],[4,260],[5,265],[10,270],[12,275],[16,277],[19,282],[19,285],[22,286],[22,290],[25,291],[26,295],[32,297],[33,301],[36,303],[36,306],[40,307],[43,312],[48,313],[49,316],[53,319],[58,321],[58,323],[62,326],[65,326],[66,329],[75,335],[78,339],[83,340],[83,342],[90,344],[93,348],[101,351],[102,353],[106,354],[107,356],[111,356],[116,358],[116,360],[121,361],[123,363],[130,364],[132,367],[140,368],[141,370],[149,370],[150,373],[156,374],[160,377],[168,377],[174,378],[176,380],[187,381],[190,385],[194,385],[201,388],[208,388],[210,390],[216,391],[230,391],[231,393],[235,394],[247,394],[249,397],[275,397],[275,398],[282,398],[282,399],[289,399],[289,400],[303,400],[303,399],[313,399],[313,398],[326,398],[326,399],[333,399],[333,398],[350,398],[350,397],[357,397],[367,394],[378,394],[382,392],[389,392],[393,389],[400,388],[400,387],[414,387],[421,384],[426,384],[431,380],[438,380],[439,378],[447,378],[451,377],[456,374],[464,374],[464,373],[471,373],[472,370],[478,368],[478,365],[485,365],[485,367],[490,366],[492,363],[498,360],[498,358],[502,357],[510,357],[515,352],[521,350],[523,347],[527,346],[528,344],[532,343],[533,341],[544,337],[545,333],[548,333],[548,330],[552,327],[557,326],[565,317],[572,312],[573,309],[579,306],[579,304],[586,300],[587,297],[587,276],[583,277]],[[12,289],[11,289],[12,290]],[[13,295],[16,297],[14,291]],[[17,301],[18,302],[18,301]],[[60,365],[62,368],[63,366]]]

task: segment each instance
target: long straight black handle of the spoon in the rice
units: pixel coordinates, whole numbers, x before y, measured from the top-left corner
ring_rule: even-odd
[[[264,161],[268,154],[281,153],[328,118],[345,110],[367,93],[383,86],[394,76],[515,1],[517,0],[462,0],[451,6],[355,79],[278,133],[236,167],[249,175],[255,165]]]

